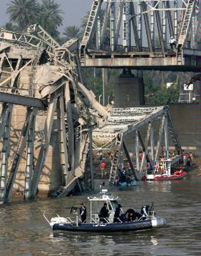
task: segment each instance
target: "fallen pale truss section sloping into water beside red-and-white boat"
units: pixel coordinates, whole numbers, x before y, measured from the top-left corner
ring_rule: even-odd
[[[129,162],[135,180],[142,179],[148,161],[152,166],[155,165],[155,161],[161,155],[161,150],[164,150],[166,156],[170,157],[170,142],[176,152],[172,158],[172,164],[183,157],[182,147],[167,106],[112,108],[110,120],[102,129],[94,130],[93,138],[94,150],[112,152],[109,174],[111,183],[115,183],[123,155]],[[102,140],[107,138],[107,142],[98,147],[96,141],[101,141],[101,138]],[[130,155],[133,150],[129,152],[129,148],[134,148],[135,160]],[[139,160],[140,151],[143,155]]]

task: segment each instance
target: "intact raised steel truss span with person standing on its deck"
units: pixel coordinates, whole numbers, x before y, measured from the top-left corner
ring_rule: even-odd
[[[200,0],[94,0],[82,66],[199,70]],[[170,50],[174,37],[176,47]]]

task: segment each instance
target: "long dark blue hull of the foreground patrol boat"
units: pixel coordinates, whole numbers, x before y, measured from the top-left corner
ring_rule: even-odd
[[[141,231],[152,228],[158,228],[165,225],[163,218],[154,218],[142,221],[122,222],[122,223],[55,223],[53,230],[72,231],[72,232],[96,232],[113,233],[127,231]]]

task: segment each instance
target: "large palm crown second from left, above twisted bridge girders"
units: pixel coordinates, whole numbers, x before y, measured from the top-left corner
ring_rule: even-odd
[[[58,37],[58,27],[63,23],[62,10],[55,0],[41,0],[38,23],[53,37]]]

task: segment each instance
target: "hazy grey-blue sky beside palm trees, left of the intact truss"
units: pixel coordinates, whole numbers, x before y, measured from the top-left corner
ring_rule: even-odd
[[[11,0],[0,0],[0,26],[8,21],[6,9]],[[57,0],[64,14],[63,27],[80,26],[82,18],[91,8],[93,0]]]

